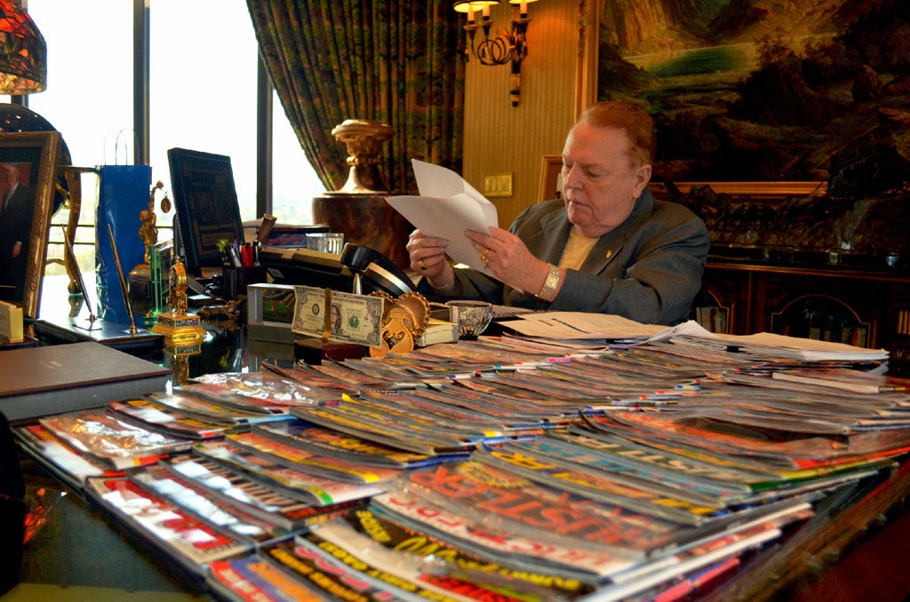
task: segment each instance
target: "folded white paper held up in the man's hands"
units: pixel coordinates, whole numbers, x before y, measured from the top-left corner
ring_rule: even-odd
[[[427,236],[449,241],[457,263],[486,272],[465,230],[489,234],[499,226],[496,206],[450,169],[411,159],[420,196],[389,196],[386,202]]]

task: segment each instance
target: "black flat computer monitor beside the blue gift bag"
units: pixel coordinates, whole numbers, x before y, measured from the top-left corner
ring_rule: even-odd
[[[243,244],[230,157],[186,148],[167,151],[187,274],[222,265],[218,241]]]

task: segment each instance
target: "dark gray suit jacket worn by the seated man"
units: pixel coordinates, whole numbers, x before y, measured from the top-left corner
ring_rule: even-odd
[[[559,263],[571,224],[561,200],[532,205],[511,225],[531,253]],[[625,316],[643,324],[673,325],[689,316],[702,286],[710,239],[688,208],[658,201],[649,190],[625,222],[591,249],[580,270],[570,269],[552,303],[475,270],[455,270],[462,298],[497,305]],[[421,283],[422,284],[422,283]]]

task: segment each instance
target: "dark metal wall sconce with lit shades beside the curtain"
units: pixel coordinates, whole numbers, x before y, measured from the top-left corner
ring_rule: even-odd
[[[490,38],[490,5],[500,4],[499,0],[460,0],[455,3],[455,11],[468,14],[468,25],[464,30],[468,32],[470,49],[465,48],[464,58],[468,60],[474,55],[480,65],[505,65],[511,63],[510,90],[512,106],[518,106],[519,88],[521,83],[521,61],[528,55],[528,44],[525,34],[528,31],[528,5],[537,0],[509,0],[509,4],[517,5],[516,14],[512,18],[511,31],[503,31],[499,36]],[[480,11],[480,25],[477,24],[476,13]],[[483,40],[477,42],[475,35],[477,29],[483,30]]]

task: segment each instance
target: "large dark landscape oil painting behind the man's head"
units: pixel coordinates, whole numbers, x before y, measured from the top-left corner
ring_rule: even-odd
[[[907,0],[600,0],[597,97],[655,117],[655,180],[906,188]]]

